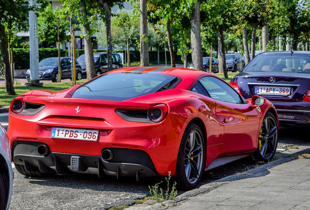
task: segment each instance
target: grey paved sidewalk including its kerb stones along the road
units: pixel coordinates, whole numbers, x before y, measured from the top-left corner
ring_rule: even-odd
[[[310,148],[178,195],[126,210],[310,210]]]

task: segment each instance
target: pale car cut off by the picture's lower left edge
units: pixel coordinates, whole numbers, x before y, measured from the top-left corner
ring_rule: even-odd
[[[0,124],[0,210],[8,210],[13,190],[11,147],[4,127]]]

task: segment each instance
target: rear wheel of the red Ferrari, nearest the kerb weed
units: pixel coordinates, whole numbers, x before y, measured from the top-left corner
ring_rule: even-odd
[[[202,177],[205,162],[203,139],[202,132],[196,124],[190,124],[184,131],[174,174],[179,190],[194,189]]]

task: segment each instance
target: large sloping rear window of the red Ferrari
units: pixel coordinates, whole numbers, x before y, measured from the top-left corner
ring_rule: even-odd
[[[157,73],[108,73],[81,85],[71,98],[125,101],[174,88],[180,81],[179,77]]]

